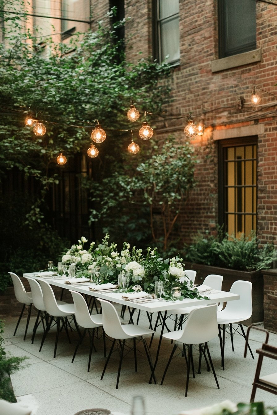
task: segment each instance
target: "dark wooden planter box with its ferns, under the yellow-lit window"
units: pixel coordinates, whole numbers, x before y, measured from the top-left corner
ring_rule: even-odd
[[[221,230],[213,235],[209,232],[198,234],[191,245],[184,249],[186,269],[197,271],[196,282],[201,282],[208,274],[223,275],[224,291],[229,291],[233,282],[244,280],[252,282],[252,317],[246,324],[261,322],[263,315],[263,278],[262,269],[270,269],[276,258],[273,244],[260,246],[256,234],[236,238],[222,234]]]

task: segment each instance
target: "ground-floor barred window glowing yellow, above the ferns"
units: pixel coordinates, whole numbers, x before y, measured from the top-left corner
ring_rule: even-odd
[[[219,223],[248,236],[257,225],[257,139],[219,142]]]

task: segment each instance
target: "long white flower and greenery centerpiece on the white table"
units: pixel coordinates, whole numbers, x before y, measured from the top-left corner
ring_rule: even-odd
[[[147,248],[144,255],[142,249],[135,246],[130,249],[128,242],[123,243],[120,251],[117,244],[109,242],[109,235],[106,234],[101,244],[91,242],[88,250],[84,249],[84,244],[88,240],[81,237],[78,244],[72,245],[61,257],[65,264],[76,264],[76,277],[90,276],[91,270],[98,270],[101,282],[117,283],[118,274],[125,273],[130,276],[128,291],[143,289],[148,293],[154,292],[155,281],[163,281],[164,290],[162,297],[171,296],[172,286],[181,288],[183,298],[203,298],[194,288],[192,281],[186,276],[184,271],[183,259],[179,256],[163,259],[157,248]]]

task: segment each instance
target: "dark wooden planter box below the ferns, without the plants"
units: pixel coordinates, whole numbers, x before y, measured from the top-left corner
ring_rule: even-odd
[[[201,284],[203,279],[209,274],[219,274],[223,276],[222,289],[230,291],[232,284],[237,280],[250,281],[252,283],[252,306],[253,312],[250,319],[245,320],[245,325],[264,321],[264,283],[262,271],[237,271],[228,268],[219,268],[202,264],[185,262],[186,269],[194,269],[196,274],[196,284]]]

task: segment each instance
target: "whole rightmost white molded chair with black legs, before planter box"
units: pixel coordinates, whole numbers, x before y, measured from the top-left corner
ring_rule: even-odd
[[[242,332],[243,337],[246,341],[245,332],[243,326],[240,323],[241,321],[247,320],[252,315],[252,283],[250,281],[235,281],[230,288],[230,293],[235,293],[240,295],[239,300],[227,301],[226,307],[218,311],[217,313],[217,322],[218,322],[218,332],[221,345],[221,364],[222,369],[224,370],[224,346],[225,346],[225,325],[230,325],[230,336],[232,342],[232,350],[234,351],[233,344],[233,324],[238,324]],[[221,325],[223,334],[221,337]],[[237,331],[237,330],[235,330]],[[237,331],[238,332],[238,331]],[[251,353],[252,358],[254,359],[252,350],[247,342],[248,349]]]

